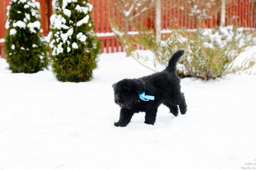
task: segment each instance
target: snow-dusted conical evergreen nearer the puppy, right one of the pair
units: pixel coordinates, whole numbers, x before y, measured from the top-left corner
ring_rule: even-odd
[[[81,82],[92,77],[100,54],[88,0],[56,0],[51,17],[52,69],[59,81]]]

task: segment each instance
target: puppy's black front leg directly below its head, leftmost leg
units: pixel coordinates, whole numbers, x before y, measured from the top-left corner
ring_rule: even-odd
[[[131,119],[133,116],[133,112],[132,110],[128,110],[128,109],[121,109],[120,110],[120,117],[119,117],[119,121],[114,123],[115,126],[120,126],[120,127],[125,127],[127,126],[127,124],[130,123]]]

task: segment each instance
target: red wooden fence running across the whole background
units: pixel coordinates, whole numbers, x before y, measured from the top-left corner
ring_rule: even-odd
[[[39,0],[36,0],[39,1]],[[216,3],[220,0],[215,0]],[[6,20],[6,6],[9,4],[10,0],[0,0],[0,39],[4,38],[4,25]],[[41,15],[42,15],[42,27],[44,30],[44,35],[49,32],[49,19],[52,14],[51,2],[52,0],[40,0],[41,3]],[[92,18],[95,23],[95,32],[97,32],[98,37],[102,43],[102,52],[112,53],[124,51],[124,47],[120,45],[120,42],[116,40],[113,35],[109,17],[116,17],[120,20],[120,24],[124,25],[124,21],[121,19],[121,14],[115,9],[114,4],[111,3],[112,0],[93,0],[90,3],[93,5]],[[117,1],[118,2],[118,1]],[[173,1],[174,2],[174,1]],[[175,21],[177,26],[185,26],[187,28],[194,29],[195,18],[185,14],[188,11],[187,8],[182,3],[182,0],[175,1],[176,3],[171,3],[170,0],[162,0],[162,30],[168,29],[172,25],[172,21]],[[242,27],[250,27],[250,15],[251,15],[251,5],[252,0],[230,0],[226,5],[226,25],[231,25],[233,23],[238,24]],[[212,9],[215,9],[213,6]],[[209,13],[210,10],[207,11]],[[155,28],[155,17],[148,17],[147,14],[142,14],[140,17],[136,18],[135,22],[140,20],[144,26]],[[220,25],[220,13],[215,14],[212,18],[208,18],[201,23],[201,26],[212,28],[216,25]],[[253,10],[253,27],[256,27],[256,5]],[[134,31],[132,27],[129,28],[130,31]],[[141,47],[138,47],[141,49]],[[4,56],[4,43],[0,42],[0,51],[2,57]]]

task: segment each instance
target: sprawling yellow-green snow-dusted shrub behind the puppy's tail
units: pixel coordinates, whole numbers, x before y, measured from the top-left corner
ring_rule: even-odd
[[[238,58],[247,46],[255,45],[255,33],[243,32],[233,26],[204,29],[191,32],[186,28],[172,29],[169,35],[157,40],[154,31],[142,28],[139,35],[125,39],[122,32],[113,29],[118,39],[131,51],[137,61],[142,56],[134,45],[140,45],[154,54],[154,66],[167,66],[172,53],[185,49],[178,64],[180,77],[201,77],[205,80],[226,74],[247,70],[255,64],[255,59]],[[254,40],[253,40],[254,39]],[[148,66],[149,67],[149,66]]]

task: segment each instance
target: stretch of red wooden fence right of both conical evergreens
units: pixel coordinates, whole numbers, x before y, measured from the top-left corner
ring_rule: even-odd
[[[211,7],[212,10],[217,8],[217,3],[220,4],[220,0],[215,0],[216,3]],[[116,17],[120,19],[121,25],[124,26],[124,22],[121,19],[120,13],[115,9],[113,4],[109,3],[111,0],[93,0],[90,1],[93,5],[92,18],[95,24],[95,32],[112,32],[109,26],[108,17]],[[189,16],[188,7],[182,5],[183,0],[173,1],[162,0],[162,21],[161,27],[163,29],[168,29],[174,21],[177,26],[184,26],[190,29],[196,28],[195,18]],[[250,27],[250,15],[251,15],[251,5],[252,0],[229,0],[226,5],[226,25],[236,24],[242,27]],[[208,15],[211,10],[208,10]],[[253,12],[253,27],[256,27],[256,6],[254,6]],[[144,24],[144,26],[150,26],[154,28],[155,18],[148,18],[146,15],[141,15],[138,20]],[[202,27],[213,28],[214,26],[220,25],[220,12],[216,15],[213,15],[212,18],[207,18],[204,23],[201,23]],[[133,28],[130,27],[130,31],[133,31]],[[124,51],[123,47],[119,46],[119,42],[116,41],[115,36],[101,36],[99,37],[102,43],[102,52],[118,52]]]

